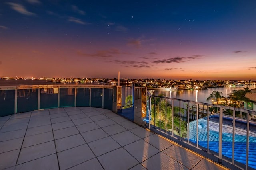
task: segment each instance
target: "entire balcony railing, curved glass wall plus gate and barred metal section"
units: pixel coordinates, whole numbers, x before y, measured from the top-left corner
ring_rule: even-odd
[[[135,123],[148,123],[149,129],[214,155],[220,163],[224,160],[239,168],[256,168],[256,123],[250,120],[250,115],[256,115],[254,111],[147,96],[146,88],[137,87],[0,86],[0,117],[38,109],[76,106],[100,107],[115,113],[132,106],[132,113],[129,114],[133,114]]]

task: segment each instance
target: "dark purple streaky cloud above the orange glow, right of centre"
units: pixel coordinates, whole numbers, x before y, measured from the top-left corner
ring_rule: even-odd
[[[181,62],[186,62],[186,61],[190,61],[191,59],[199,59],[203,57],[202,55],[193,55],[190,57],[169,57],[167,59],[162,59],[162,60],[156,60],[153,61],[152,63],[156,63],[156,64],[160,64],[160,63],[181,63]]]

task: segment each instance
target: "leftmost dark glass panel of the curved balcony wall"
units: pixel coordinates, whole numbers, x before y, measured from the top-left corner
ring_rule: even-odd
[[[15,90],[0,90],[0,117],[14,114]]]

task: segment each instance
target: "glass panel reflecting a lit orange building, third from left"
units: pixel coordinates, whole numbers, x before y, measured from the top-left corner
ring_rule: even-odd
[[[58,107],[58,88],[40,89],[40,109]]]

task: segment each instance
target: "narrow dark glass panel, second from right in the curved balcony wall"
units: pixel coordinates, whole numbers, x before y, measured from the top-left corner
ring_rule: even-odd
[[[102,88],[91,88],[91,107],[102,108]]]

